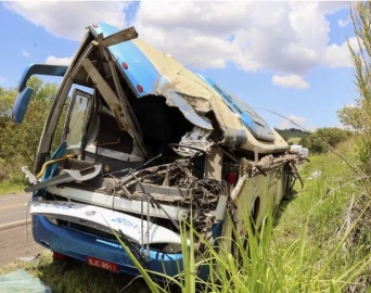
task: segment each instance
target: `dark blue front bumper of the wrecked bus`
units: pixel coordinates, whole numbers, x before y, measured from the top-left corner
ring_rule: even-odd
[[[88,256],[117,265],[118,272],[139,276],[124,249],[112,240],[51,224],[43,216],[33,216],[33,235],[42,246],[88,264]],[[182,254],[150,250],[145,265],[150,270],[176,276],[183,270]]]

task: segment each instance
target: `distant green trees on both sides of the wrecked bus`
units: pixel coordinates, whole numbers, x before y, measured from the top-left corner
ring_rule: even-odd
[[[34,89],[34,93],[22,125],[13,123],[10,117],[18,94],[17,89],[0,87],[0,182],[26,182],[21,167],[34,167],[43,124],[57,90],[56,84],[43,82],[38,77],[31,77],[27,85]],[[323,153],[328,151],[327,145],[336,146],[363,129],[359,106],[345,106],[337,112],[337,116],[347,129],[329,127],[306,132],[293,128],[281,130],[284,132],[282,136],[287,140],[287,131],[300,133],[299,144],[308,148],[311,153]]]

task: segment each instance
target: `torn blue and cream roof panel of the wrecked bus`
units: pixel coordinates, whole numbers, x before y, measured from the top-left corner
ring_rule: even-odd
[[[105,37],[116,33],[113,27],[105,24],[99,24],[99,28],[90,28],[94,34],[104,30]],[[206,113],[213,112],[222,131],[219,138],[221,144],[231,149],[257,149],[259,153],[282,152],[287,148],[285,143],[277,141],[278,136],[274,131],[270,133],[270,127],[260,117],[257,120],[244,107],[241,109],[242,113],[238,113],[235,109],[233,111],[222,94],[209,82],[171,55],[141,39],[114,44],[108,50],[115,56],[117,65],[137,97],[164,95],[168,105],[177,106],[188,120],[204,129],[213,129],[212,123],[205,116]],[[123,62],[127,66],[123,66]],[[142,92],[138,91],[139,84],[142,86]],[[251,130],[255,130],[255,133]]]

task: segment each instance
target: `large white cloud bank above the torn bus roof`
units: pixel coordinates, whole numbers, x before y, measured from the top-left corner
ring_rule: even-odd
[[[327,14],[347,3],[140,2],[140,37],[194,67],[268,69],[303,76],[317,66],[350,66],[346,43],[329,43]],[[268,16],[269,15],[269,16]],[[191,21],[190,21],[191,20]],[[334,53],[334,54],[333,54]]]

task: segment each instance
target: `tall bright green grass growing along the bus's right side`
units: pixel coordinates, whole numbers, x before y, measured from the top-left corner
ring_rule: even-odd
[[[322,173],[307,179],[315,170]],[[367,211],[364,207],[356,219],[347,222],[348,204],[359,196],[358,180],[331,153],[311,157],[311,163],[302,168],[302,175],[306,181],[304,190],[276,213],[271,206],[259,229],[246,217],[245,239],[234,231],[231,239],[219,239],[220,245],[215,249],[189,225],[191,245],[188,247],[186,242],[182,245],[184,271],[174,278],[162,277],[177,284],[181,292],[196,289],[199,292],[344,292],[349,289],[371,264],[371,254],[355,257],[361,247],[355,252],[348,241]],[[192,235],[207,247],[202,259],[194,256]],[[234,253],[223,249],[223,241],[233,242]],[[130,251],[126,252],[130,255]],[[195,273],[205,265],[210,270],[208,282]],[[166,282],[158,284],[146,276],[153,272],[140,265],[137,268],[153,292],[168,292]]]

